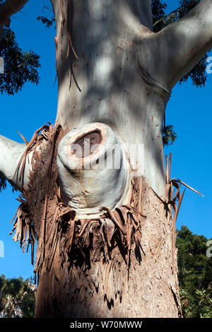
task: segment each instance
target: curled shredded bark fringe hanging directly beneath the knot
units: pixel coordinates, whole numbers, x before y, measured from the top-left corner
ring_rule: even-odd
[[[35,274],[38,280],[43,267],[46,271],[51,270],[58,244],[60,244],[61,250],[69,256],[70,263],[75,261],[77,251],[78,255],[81,255],[84,268],[89,266],[86,251],[94,249],[94,260],[98,260],[103,251],[105,259],[110,260],[112,250],[118,247],[129,272],[132,246],[134,245],[137,251],[142,250],[141,221],[146,216],[136,207],[126,205],[120,206],[114,211],[102,207],[102,211],[106,212],[101,218],[79,220],[76,218],[76,212],[61,201],[59,192],[56,194],[57,206],[52,215],[51,226],[47,230],[45,248],[43,247],[44,242],[37,247]],[[133,196],[136,195],[132,195],[132,201],[134,201]],[[64,232],[69,235],[65,239]],[[98,235],[99,244],[98,239],[93,240],[96,235]],[[48,252],[47,256],[44,251]]]

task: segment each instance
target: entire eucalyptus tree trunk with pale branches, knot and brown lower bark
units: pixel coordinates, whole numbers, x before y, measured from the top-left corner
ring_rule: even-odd
[[[26,146],[0,141],[23,194],[15,239],[38,241],[35,316],[180,316],[162,126],[173,86],[211,49],[212,1],[158,33],[149,0],[52,7],[56,124]]]

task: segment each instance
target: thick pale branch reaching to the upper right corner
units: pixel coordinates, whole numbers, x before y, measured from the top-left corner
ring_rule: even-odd
[[[212,1],[201,1],[184,18],[158,32],[155,40],[161,63],[158,78],[171,89],[212,48]]]

